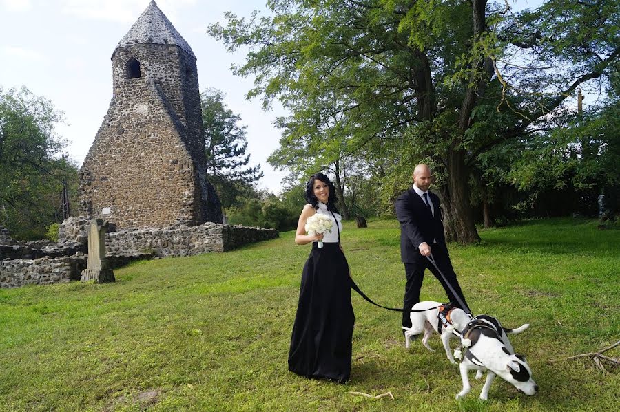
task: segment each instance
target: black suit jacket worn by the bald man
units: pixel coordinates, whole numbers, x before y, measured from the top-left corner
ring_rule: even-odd
[[[396,217],[400,222],[400,258],[404,263],[415,263],[420,254],[420,243],[428,246],[446,243],[440,200],[435,193],[428,192],[435,208],[435,216],[428,209],[422,197],[413,188],[396,199]]]

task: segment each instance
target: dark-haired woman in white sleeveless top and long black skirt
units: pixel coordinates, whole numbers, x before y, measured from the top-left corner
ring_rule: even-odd
[[[312,175],[306,184],[305,197],[308,204],[299,217],[295,243],[312,242],[312,250],[302,272],[289,370],[307,378],[344,383],[351,374],[355,315],[349,265],[340,247],[342,221],[335,207],[333,183],[323,173]],[[315,213],[334,221],[331,232],[305,234],[306,221]],[[323,241],[323,248],[318,248],[318,241]]]

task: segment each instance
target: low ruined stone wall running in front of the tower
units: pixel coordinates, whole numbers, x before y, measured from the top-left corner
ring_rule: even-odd
[[[17,288],[23,285],[62,283],[80,279],[86,268],[83,218],[70,219],[63,223],[60,244],[49,244],[45,248],[25,248],[20,254],[6,254],[0,261],[0,288]],[[168,228],[143,228],[119,230],[106,236],[106,258],[111,268],[120,268],[137,259],[151,259],[154,256],[192,256],[208,252],[225,252],[239,246],[274,239],[278,230],[246,228],[207,222],[198,226],[178,225]],[[0,246],[14,251],[10,245]],[[33,252],[34,250],[34,252]],[[63,253],[71,254],[62,256]],[[44,257],[41,256],[44,254]],[[47,253],[47,254],[46,254]],[[23,259],[34,257],[38,259]]]

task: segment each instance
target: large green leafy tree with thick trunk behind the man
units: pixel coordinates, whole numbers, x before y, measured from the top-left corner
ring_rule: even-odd
[[[229,50],[249,47],[235,68],[256,76],[248,96],[266,106],[279,98],[316,124],[338,113],[341,147],[324,151],[398,140],[389,175],[434,164],[448,238],[464,243],[479,239],[468,186],[479,156],[548,127],[566,98],[604,79],[620,53],[617,0],[550,0],[520,14],[487,0],[267,4],[269,17],[228,13],[227,25],[209,29]]]

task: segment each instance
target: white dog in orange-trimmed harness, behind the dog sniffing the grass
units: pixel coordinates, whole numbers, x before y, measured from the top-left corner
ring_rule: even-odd
[[[446,351],[446,356],[448,360],[452,363],[457,363],[454,360],[452,355],[452,351],[450,349],[450,339],[457,338],[462,330],[468,325],[469,322],[472,321],[472,317],[465,313],[464,310],[455,307],[450,312],[448,312],[448,321],[451,323],[450,326],[444,326],[441,321],[437,318],[437,315],[440,312],[440,306],[442,303],[433,302],[433,301],[422,301],[420,303],[416,303],[413,305],[413,309],[415,310],[425,310],[424,312],[411,312],[411,327],[404,329],[404,337],[405,337],[405,347],[409,348],[409,341],[411,340],[411,336],[419,335],[424,332],[424,337],[422,338],[422,345],[424,345],[429,351],[434,352],[435,350],[428,345],[428,339],[431,338],[433,331],[437,332],[441,335],[442,344],[444,345],[444,349]],[[530,325],[528,323],[521,325],[517,329],[506,329],[503,327],[496,318],[493,318],[488,315],[479,315],[476,316],[480,321],[484,321],[488,324],[489,327],[493,327],[499,338],[502,339],[502,343],[504,346],[508,348],[510,353],[514,353],[513,345],[510,345],[510,340],[508,340],[508,336],[506,334],[519,334],[527,329]]]

